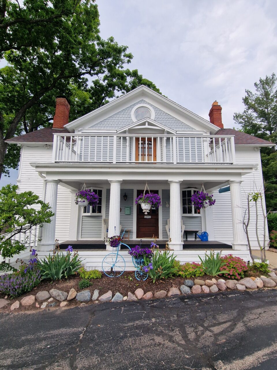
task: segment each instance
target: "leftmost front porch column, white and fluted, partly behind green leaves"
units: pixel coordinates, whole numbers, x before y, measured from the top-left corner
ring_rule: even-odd
[[[50,223],[44,223],[42,228],[41,242],[39,242],[38,250],[53,250],[55,248],[55,231],[56,231],[56,212],[57,212],[57,180],[46,181],[45,203],[49,203],[51,211],[55,213],[51,217]]]

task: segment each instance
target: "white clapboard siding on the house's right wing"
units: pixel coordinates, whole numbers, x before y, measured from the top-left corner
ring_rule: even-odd
[[[252,147],[236,147],[236,162],[237,164],[252,165],[256,168],[251,174],[243,176],[242,188],[242,202],[243,212],[247,208],[247,194],[250,192],[263,191],[263,181],[260,165],[260,152],[255,151]],[[232,243],[233,241],[233,228],[232,228],[232,211],[230,192],[219,194],[218,191],[214,192],[216,203],[213,206],[213,228],[215,240],[220,242]],[[258,247],[256,238],[256,213],[254,203],[251,205],[251,218],[249,225],[250,242],[253,247]],[[259,207],[259,237],[263,240],[263,218],[261,208]],[[241,220],[242,221],[242,220]],[[266,232],[266,238],[268,234]]]

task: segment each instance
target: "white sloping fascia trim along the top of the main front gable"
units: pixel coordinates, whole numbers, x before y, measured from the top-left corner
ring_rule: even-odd
[[[141,94],[141,92],[142,92],[142,94]],[[186,109],[186,108],[182,107],[181,105],[175,103],[174,101],[164,97],[163,95],[158,94],[157,92],[151,90],[150,88],[148,88],[144,85],[141,85],[141,86],[135,88],[134,90],[132,90],[130,92],[127,92],[126,94],[122,95],[121,97],[110,101],[109,103],[103,105],[102,107],[99,107],[99,108],[95,109],[94,111],[89,112],[89,113],[83,115],[82,117],[77,118],[76,120],[74,120],[72,122],[69,122],[64,127],[68,131],[74,132],[74,130],[78,129],[80,127],[80,125],[84,125],[86,122],[92,121],[93,119],[95,119],[97,116],[100,116],[104,112],[112,110],[115,105],[119,105],[119,107],[121,107],[121,105],[123,105],[123,104],[126,105],[128,101],[134,99],[134,97],[136,97],[136,95],[139,95],[139,94],[141,94],[141,98],[144,98],[144,96],[146,96],[146,97],[149,97],[149,98],[153,99],[154,101],[160,102],[160,104],[161,104],[161,102],[163,102],[163,104],[167,105],[167,107],[169,107],[172,111],[177,112],[179,115],[187,116],[187,118],[190,121],[195,122],[198,125],[201,125],[201,127],[204,126],[204,129],[208,129],[208,131],[211,132],[211,134],[217,132],[218,129],[219,129],[218,126],[213,125],[211,122],[205,120],[204,118],[200,117],[199,115],[189,111],[188,109]],[[121,109],[122,108],[118,109],[117,111],[119,111]],[[114,113],[112,113],[112,114],[114,114]],[[98,121],[101,121],[101,120],[102,119],[100,118]]]

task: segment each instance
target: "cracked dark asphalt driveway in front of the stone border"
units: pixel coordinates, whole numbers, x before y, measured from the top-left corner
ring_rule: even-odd
[[[0,369],[276,370],[277,290],[0,316]]]

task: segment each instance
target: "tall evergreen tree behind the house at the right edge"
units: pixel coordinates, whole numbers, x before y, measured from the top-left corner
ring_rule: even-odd
[[[242,99],[245,109],[234,120],[247,134],[277,143],[277,78],[273,73],[254,84],[256,92],[246,90]],[[275,146],[261,148],[266,185],[267,209],[277,211],[277,152]]]

